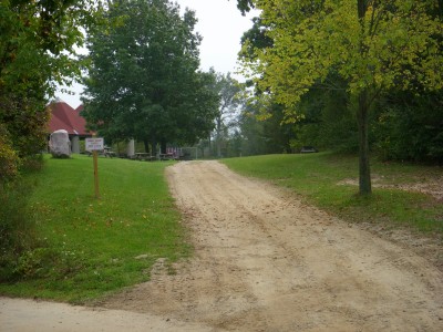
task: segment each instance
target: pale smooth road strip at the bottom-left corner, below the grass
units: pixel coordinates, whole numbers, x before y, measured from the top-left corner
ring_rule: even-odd
[[[200,332],[209,329],[148,313],[0,298],[1,332]]]

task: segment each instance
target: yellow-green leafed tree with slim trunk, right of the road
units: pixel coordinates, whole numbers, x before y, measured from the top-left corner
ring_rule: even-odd
[[[443,87],[443,23],[436,1],[256,0],[272,46],[256,49],[244,66],[257,85],[302,117],[300,97],[315,84],[334,89],[330,73],[348,84],[359,127],[359,193],[371,194],[368,123],[378,96],[389,89]],[[249,46],[247,43],[245,48]],[[258,75],[257,75],[258,74]],[[333,75],[332,75],[333,76]],[[419,91],[416,91],[419,93]]]

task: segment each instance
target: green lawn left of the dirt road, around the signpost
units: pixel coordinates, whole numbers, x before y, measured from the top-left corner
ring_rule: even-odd
[[[42,247],[21,259],[24,278],[0,284],[0,293],[83,302],[148,280],[158,258],[188,256],[164,178],[167,165],[100,158],[97,200],[91,157],[48,157],[32,175]]]

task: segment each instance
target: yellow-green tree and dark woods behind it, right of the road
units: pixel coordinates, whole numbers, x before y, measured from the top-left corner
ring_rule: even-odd
[[[251,103],[264,116],[281,105],[296,142],[357,146],[362,195],[371,148],[441,162],[442,3],[238,0],[260,10],[241,51]]]

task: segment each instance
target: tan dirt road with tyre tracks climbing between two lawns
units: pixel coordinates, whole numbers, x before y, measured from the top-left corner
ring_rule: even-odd
[[[153,331],[443,331],[443,274],[426,259],[217,162],[167,177],[195,258],[175,274],[158,260],[103,308],[155,318]]]

